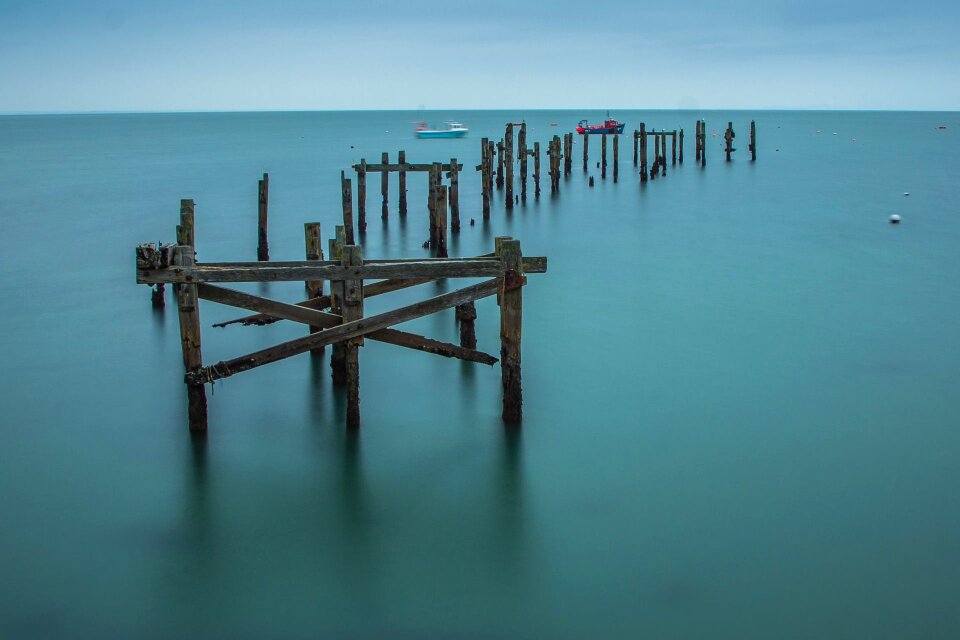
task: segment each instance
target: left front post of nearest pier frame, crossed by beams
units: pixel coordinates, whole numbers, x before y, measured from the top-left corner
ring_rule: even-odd
[[[195,264],[193,247],[177,245],[173,248],[173,264],[192,267]],[[180,284],[177,293],[177,312],[180,319],[180,346],[183,349],[183,368],[187,374],[203,368],[200,352],[200,299],[197,285]],[[187,415],[190,431],[207,430],[207,392],[202,382],[187,379]]]

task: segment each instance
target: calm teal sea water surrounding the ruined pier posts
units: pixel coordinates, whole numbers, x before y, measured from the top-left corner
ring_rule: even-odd
[[[627,136],[619,184],[591,167],[590,189],[577,146],[560,197],[544,175],[488,223],[466,171],[451,255],[512,235],[549,257],[524,293],[522,430],[497,367],[368,341],[359,435],[303,355],[208,391],[191,441],[176,313],[134,284],[134,246],[171,241],[189,197],[201,260],[255,259],[269,171],[271,257],[298,260],[361,157],[472,167],[507,121],[545,150],[603,116],[426,117],[448,115],[470,137],[415,140],[410,112],[0,118],[0,636],[957,637],[956,113],[620,112],[685,128],[686,163],[641,187]],[[366,257],[428,255],[408,183],[382,224],[369,181]],[[208,362],[304,333],[208,327],[236,315],[203,304]],[[407,327],[456,339],[452,311]]]

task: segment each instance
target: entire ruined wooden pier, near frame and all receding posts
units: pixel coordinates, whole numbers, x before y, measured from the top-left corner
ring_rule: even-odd
[[[518,128],[516,146],[514,128]],[[560,190],[561,176],[569,177],[572,169],[573,133],[562,138],[554,135],[547,140],[547,173],[550,191]],[[601,179],[607,174],[607,134],[600,134],[601,158],[597,163]],[[613,182],[619,179],[619,136],[611,134]],[[756,122],[750,121],[749,151],[756,160]],[[588,173],[589,139],[584,134],[583,170]],[[723,134],[724,154],[731,160],[733,123],[728,122]],[[648,144],[653,139],[653,163],[648,164]],[[633,163],[639,165],[640,181],[665,176],[667,169],[667,140],[670,140],[671,165],[683,164],[683,129],[656,131],[645,123],[633,132]],[[706,166],[706,122],[698,119],[695,127],[695,158]],[[480,193],[484,220],[490,218],[493,193],[505,189],[504,207],[527,201],[529,159],[533,159],[534,197],[540,196],[541,149],[540,142],[527,140],[525,122],[506,124],[504,137],[495,142],[483,138],[480,142]],[[519,163],[519,195],[514,195],[514,161]],[[325,353],[330,345],[331,377],[334,385],[346,387],[346,424],[354,429],[360,425],[360,362],[359,348],[369,338],[395,346],[458,358],[467,362],[501,368],[503,387],[502,417],[515,423],[522,418],[522,385],[520,344],[522,336],[522,288],[527,274],[546,272],[545,257],[524,257],[520,242],[510,237],[498,237],[492,253],[467,258],[450,258],[447,250],[448,221],[450,231],[460,231],[459,175],[463,165],[456,158],[449,162],[409,163],[406,152],[399,151],[397,162],[391,163],[383,152],[379,163],[361,159],[351,165],[356,173],[356,208],[353,183],[341,172],[341,200],[343,224],[335,227],[324,256],[320,223],[304,225],[305,259],[293,262],[270,262],[267,234],[269,210],[269,175],[263,174],[257,189],[257,261],[198,263],[195,252],[195,206],[192,200],[182,200],[180,223],[176,227],[176,242],[172,244],[141,244],[136,248],[137,282],[152,285],[154,306],[164,305],[165,285],[173,285],[180,324],[181,347],[187,387],[188,422],[193,431],[207,429],[207,399],[205,386],[217,380],[236,375],[266,364],[310,352],[314,356]],[[408,214],[406,179],[408,172],[426,173],[428,179],[428,241],[436,257],[413,259],[365,259],[362,237],[366,230],[366,179],[368,173],[380,173],[381,218],[389,217],[389,174],[399,178],[399,214]],[[447,184],[444,184],[444,179]],[[594,186],[594,176],[588,176]],[[356,217],[354,213],[356,212]],[[473,224],[471,220],[471,224]],[[366,298],[389,294],[429,282],[452,278],[483,278],[478,284],[429,297],[420,302],[394,308],[373,316],[364,315]],[[306,299],[294,303],[272,300],[222,286],[240,282],[302,281]],[[325,282],[329,292],[324,293]],[[475,322],[477,300],[496,296],[500,309],[499,358],[477,348]],[[201,351],[200,300],[230,305],[252,312],[235,320],[220,323],[229,325],[264,325],[291,321],[307,325],[306,335],[273,345],[253,353],[205,365]],[[426,315],[455,309],[459,325],[459,344],[434,340],[426,336],[394,328],[395,325]]]

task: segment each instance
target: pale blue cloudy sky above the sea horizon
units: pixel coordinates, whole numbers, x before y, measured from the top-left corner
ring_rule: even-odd
[[[0,112],[960,109],[957,0],[0,0]]]

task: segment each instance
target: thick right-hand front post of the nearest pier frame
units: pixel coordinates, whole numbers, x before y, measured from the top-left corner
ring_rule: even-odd
[[[520,341],[523,333],[523,256],[520,241],[497,238],[497,255],[503,267],[500,285],[500,376],[503,385],[503,421],[518,423],[523,417],[520,376]]]

